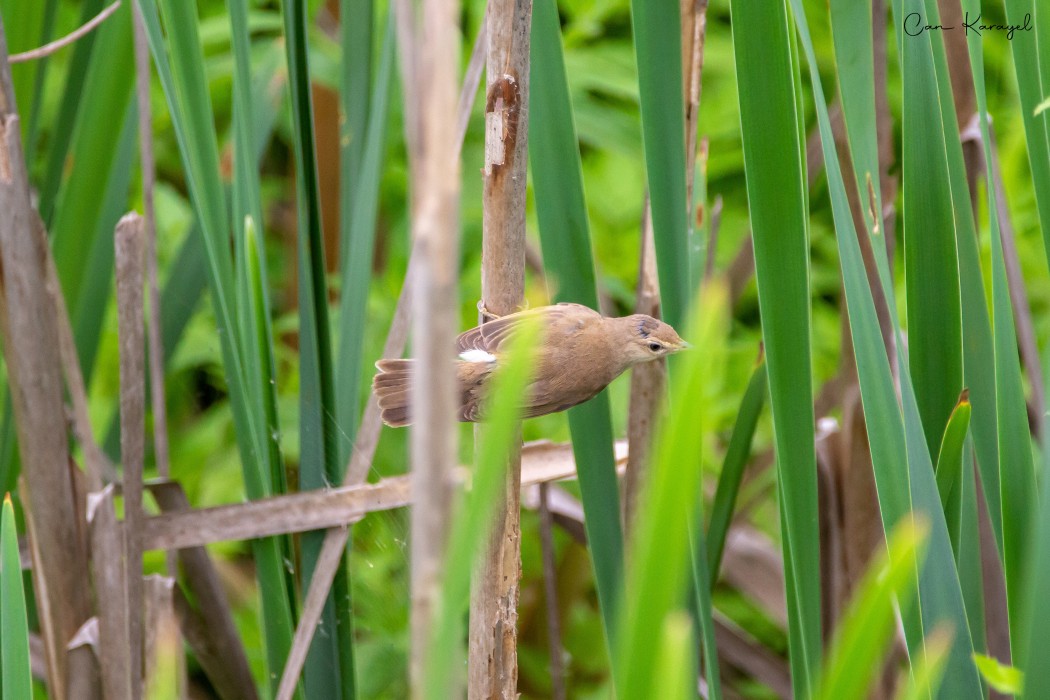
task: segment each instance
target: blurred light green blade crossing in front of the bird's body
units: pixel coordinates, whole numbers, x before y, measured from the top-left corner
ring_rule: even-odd
[[[518,440],[522,406],[541,328],[527,320],[510,340],[506,360],[491,379],[491,399],[485,430],[478,446],[477,469],[465,503],[449,528],[444,581],[436,607],[430,646],[424,670],[424,697],[444,700],[457,696],[463,679],[463,622],[470,595],[470,572],[488,540],[492,512],[499,503],[510,450]],[[462,692],[460,691],[460,694]]]

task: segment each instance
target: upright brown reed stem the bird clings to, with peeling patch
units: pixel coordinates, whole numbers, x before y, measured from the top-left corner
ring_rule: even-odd
[[[490,0],[486,20],[484,233],[481,322],[518,311],[525,297],[530,0]],[[484,426],[475,429],[477,437]],[[472,572],[467,662],[471,700],[518,697],[521,451],[514,449]]]

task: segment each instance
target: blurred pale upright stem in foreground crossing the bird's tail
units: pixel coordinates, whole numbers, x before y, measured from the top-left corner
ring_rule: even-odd
[[[441,593],[452,507],[452,470],[456,465],[456,375],[450,348],[458,323],[460,168],[455,157],[459,65],[459,3],[424,0],[422,41],[415,65],[421,144],[412,153],[418,164],[413,188],[413,237],[420,266],[412,295],[416,370],[412,404],[412,696],[426,693],[425,669],[436,607]]]

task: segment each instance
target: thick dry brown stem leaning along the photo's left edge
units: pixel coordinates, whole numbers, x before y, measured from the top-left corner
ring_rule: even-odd
[[[62,401],[62,363],[47,294],[44,237],[29,198],[20,122],[0,19],[0,314],[7,382],[18,429],[33,546],[33,580],[44,637],[48,685],[66,697],[66,642],[90,615],[87,556],[77,519]]]

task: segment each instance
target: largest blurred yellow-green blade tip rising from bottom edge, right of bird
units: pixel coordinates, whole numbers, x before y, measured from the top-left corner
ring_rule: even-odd
[[[921,522],[904,519],[886,549],[876,553],[836,629],[819,697],[865,696],[897,627],[895,602],[915,596],[914,563],[923,558],[928,530]]]

